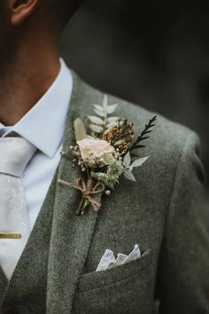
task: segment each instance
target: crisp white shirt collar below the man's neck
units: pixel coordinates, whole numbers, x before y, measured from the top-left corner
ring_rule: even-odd
[[[5,128],[0,123],[0,130],[5,131],[4,137],[14,131],[52,158],[64,136],[72,89],[73,76],[64,60],[60,59],[59,74],[43,98],[14,126]]]

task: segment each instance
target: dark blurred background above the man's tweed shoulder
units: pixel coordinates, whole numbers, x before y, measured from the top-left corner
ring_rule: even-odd
[[[86,82],[195,130],[208,189],[208,1],[89,0],[61,49]]]

